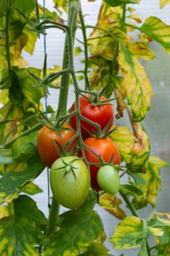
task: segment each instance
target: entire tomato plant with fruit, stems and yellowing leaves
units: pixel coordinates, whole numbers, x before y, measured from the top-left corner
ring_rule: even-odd
[[[154,44],[150,48],[153,41],[170,52],[169,25],[155,15],[142,20],[134,9],[140,0],[103,0],[96,26],[85,24],[80,0],[54,0],[52,12],[46,9],[47,1],[43,2],[42,7],[37,0],[0,1],[0,255],[110,255],[103,245],[100,217],[93,211],[99,202],[99,207],[120,220],[109,239],[112,250],[138,247],[138,256],[167,256],[169,214],[164,209],[158,212],[156,204],[161,167],[167,163],[150,156],[153,142],[145,122],[140,122],[153,96],[143,60],[155,58]],[[167,3],[160,0],[161,8]],[[152,4],[151,12],[157,5]],[[47,65],[49,29],[65,32],[62,67],[55,63],[53,69]],[[43,36],[42,69],[30,67],[22,50],[32,55],[36,40]],[[84,56],[81,70],[75,67],[74,55],[79,54]],[[162,75],[161,69],[157,73]],[[75,96],[75,102],[69,102],[73,104],[70,111],[69,86]],[[48,103],[56,95],[54,90],[59,90],[59,96],[53,109]],[[122,119],[125,112],[126,119]],[[114,125],[114,116],[122,119],[122,125]],[[42,128],[42,123],[52,126]],[[161,141],[160,148],[165,148],[162,145]],[[51,165],[49,184],[46,166]],[[34,183],[41,174],[47,174],[43,180],[48,220],[32,197],[42,192]],[[101,189],[107,193],[96,193]],[[60,204],[71,210],[61,213]],[[147,205],[151,205],[147,212],[140,211]],[[154,236],[152,245],[148,236]]]

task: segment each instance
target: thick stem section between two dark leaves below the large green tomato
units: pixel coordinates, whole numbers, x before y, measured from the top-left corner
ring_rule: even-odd
[[[56,220],[58,219],[58,214],[60,210],[59,203],[52,197],[52,205],[50,207],[50,214],[48,218],[48,225],[46,229],[46,237],[49,238],[50,234],[54,232],[56,228]]]

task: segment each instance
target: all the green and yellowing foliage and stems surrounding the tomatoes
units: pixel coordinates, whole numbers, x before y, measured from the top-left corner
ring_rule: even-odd
[[[140,0],[103,0],[96,26],[85,26],[79,2],[54,0],[54,12],[44,10],[34,0],[1,0],[0,3],[0,203],[3,204],[0,207],[0,254],[109,256],[103,245],[105,234],[101,220],[93,210],[98,199],[100,207],[113,218],[120,219],[109,239],[114,249],[140,247],[138,256],[170,255],[169,214],[155,211],[157,194],[161,189],[160,172],[167,163],[150,156],[149,138],[140,123],[148,113],[153,96],[151,82],[140,60],[155,58],[155,53],[149,49],[153,40],[170,53],[170,26],[153,16],[142,21],[134,13],[134,7]],[[160,0],[160,7],[168,3],[169,0]],[[67,24],[62,19],[63,12],[68,15]],[[77,23],[83,32],[83,46],[73,49]],[[22,51],[34,53],[37,38],[45,36],[45,30],[48,32],[50,28],[66,32],[62,68],[48,69],[47,56],[42,70],[26,67]],[[87,38],[86,30],[89,28],[92,31]],[[131,37],[134,30],[138,32],[137,39]],[[80,71],[81,75],[77,75],[73,56],[83,53],[85,68]],[[85,81],[84,89],[79,88],[79,80]],[[73,139],[79,141],[77,148],[73,145],[71,154],[77,154],[81,148],[88,168],[81,134],[81,119],[84,118],[85,122],[87,119],[81,116],[79,96],[83,95],[92,106],[98,104],[99,107],[116,100],[116,119],[127,112],[131,127],[113,125],[110,131],[108,123],[101,131],[99,123],[88,121],[95,127],[93,131],[97,131],[97,139],[108,135],[116,144],[123,163],[114,167],[120,177],[127,177],[128,182],[120,185],[121,199],[103,192],[99,192],[98,198],[96,192],[89,188],[89,196],[81,207],[59,216],[59,206],[53,198],[52,205],[48,205],[50,214],[47,221],[36,202],[28,196],[42,192],[34,183],[45,168],[38,156],[37,137],[42,125],[48,124],[60,134],[62,125],[73,116],[74,113],[66,113],[69,84],[74,86],[74,111],[77,115],[77,134]],[[49,93],[48,88],[59,89],[60,96],[58,108],[53,110],[48,106],[44,112],[41,99]],[[89,98],[85,96],[87,94]],[[112,94],[115,98],[110,98]],[[110,99],[99,101],[103,95]],[[65,156],[67,143],[64,147],[58,141],[54,143]],[[101,156],[97,157],[99,164],[105,165]],[[107,164],[112,165],[111,162],[112,159]],[[70,166],[65,168],[70,170]],[[123,200],[132,216],[127,216],[128,212],[123,210]],[[136,210],[148,203],[153,212],[144,220]],[[152,248],[148,245],[148,236],[155,237]]]

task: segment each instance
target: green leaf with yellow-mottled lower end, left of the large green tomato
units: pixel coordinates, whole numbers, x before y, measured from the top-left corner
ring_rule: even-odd
[[[10,203],[17,198],[22,187],[29,181],[33,181],[44,170],[38,154],[28,159],[28,169],[20,172],[5,172],[0,179],[0,203]]]

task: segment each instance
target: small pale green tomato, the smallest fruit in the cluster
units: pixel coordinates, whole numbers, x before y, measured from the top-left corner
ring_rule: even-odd
[[[103,191],[116,195],[120,189],[120,177],[114,166],[105,165],[99,168],[97,183]]]

